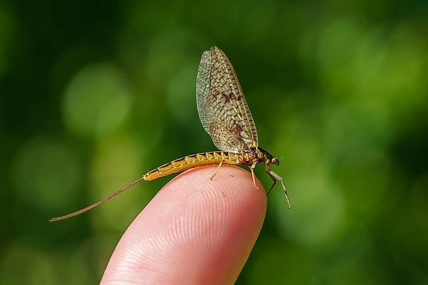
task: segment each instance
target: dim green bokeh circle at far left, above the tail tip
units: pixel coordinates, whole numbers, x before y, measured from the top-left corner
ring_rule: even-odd
[[[56,211],[75,200],[80,182],[79,163],[61,143],[36,138],[16,155],[12,178],[21,200],[44,211]]]

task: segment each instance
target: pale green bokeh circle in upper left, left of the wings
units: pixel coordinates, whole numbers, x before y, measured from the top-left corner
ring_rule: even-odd
[[[91,65],[77,73],[65,91],[65,123],[81,136],[103,136],[122,123],[131,101],[128,80],[117,67]]]

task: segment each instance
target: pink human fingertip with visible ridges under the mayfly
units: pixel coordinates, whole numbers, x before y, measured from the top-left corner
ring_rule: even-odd
[[[266,194],[241,168],[188,170],[165,185],[116,246],[102,284],[230,284],[266,213]]]

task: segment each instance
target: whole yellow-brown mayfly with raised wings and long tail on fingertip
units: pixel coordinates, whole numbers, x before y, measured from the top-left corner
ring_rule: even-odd
[[[218,167],[211,180],[223,164],[246,165],[250,167],[254,187],[259,190],[256,186],[254,168],[259,162],[263,162],[266,173],[274,181],[266,195],[269,195],[277,180],[280,180],[288,207],[291,208],[284,180],[269,169],[270,165],[279,166],[280,159],[258,146],[256,126],[238,77],[227,56],[217,47],[211,47],[209,51],[202,54],[196,82],[196,100],[202,126],[220,151],[197,153],[173,160],[85,209],[52,218],[50,221],[59,221],[82,214],[141,180],[150,181],[190,168],[217,164]]]

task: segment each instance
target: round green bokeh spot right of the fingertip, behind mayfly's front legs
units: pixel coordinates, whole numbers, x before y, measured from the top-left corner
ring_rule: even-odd
[[[345,205],[340,189],[328,179],[323,169],[287,176],[288,188],[292,189],[292,210],[286,211],[281,189],[273,193],[279,227],[285,236],[294,236],[305,245],[318,245],[335,236],[344,219]]]

